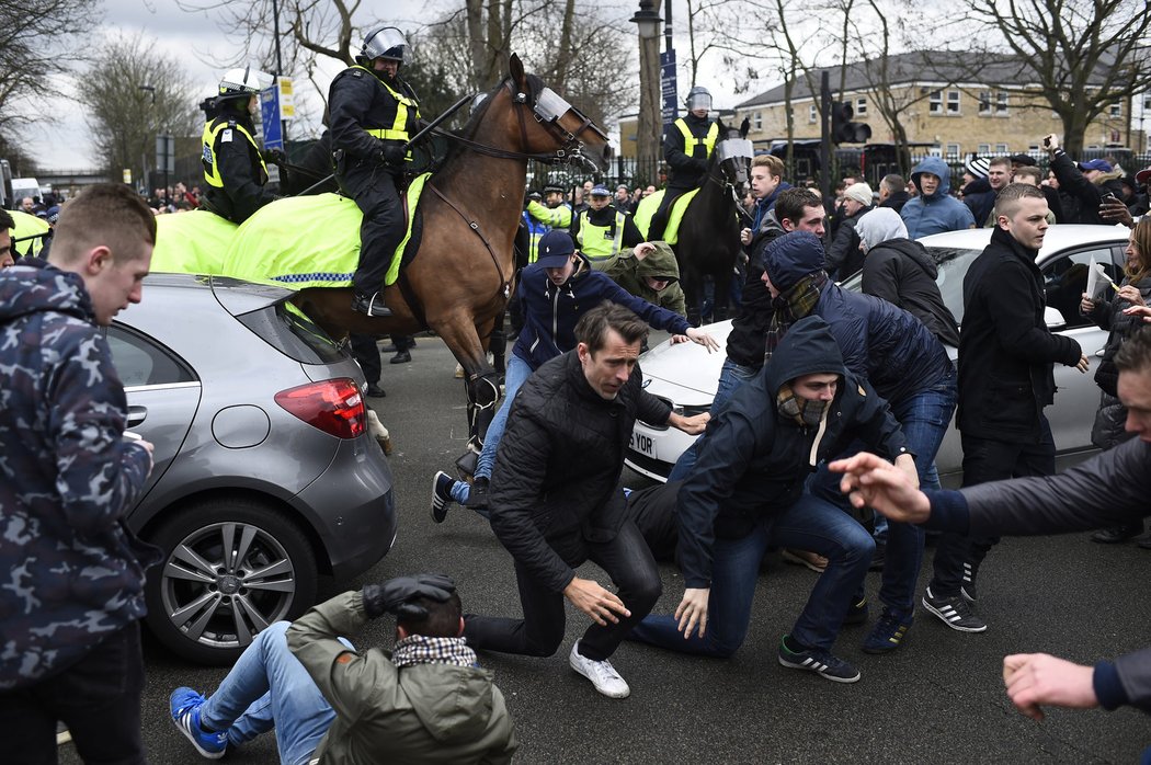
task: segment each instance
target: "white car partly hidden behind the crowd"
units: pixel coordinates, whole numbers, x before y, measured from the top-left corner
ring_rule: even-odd
[[[1103,353],[1107,332],[1080,315],[1080,297],[1087,288],[1087,273],[1093,259],[1106,268],[1116,284],[1122,280],[1129,231],[1121,225],[1052,225],[1036,258],[1047,291],[1047,326],[1052,331],[1074,338],[1092,362],[1092,369],[1081,374],[1073,367],[1055,365],[1055,403],[1047,407],[1047,419],[1055,439],[1060,462],[1082,458],[1091,445],[1091,424],[1099,405],[1099,389],[1092,375],[1093,365]],[[991,229],[968,229],[936,234],[921,239],[939,265],[939,291],[944,303],[963,322],[963,276],[971,261],[991,240]],[[843,283],[859,291],[860,276]],[[731,322],[706,327],[721,345],[731,331]],[[948,349],[952,359],[958,350]],[[643,384],[648,392],[669,401],[685,415],[707,412],[715,398],[724,353],[709,354],[694,343],[661,343],[640,357]],[[627,449],[627,466],[657,481],[665,481],[679,456],[691,445],[692,436],[674,428],[653,428],[637,422]],[[947,431],[936,465],[945,484],[956,485],[961,477],[963,454],[959,431]]]

